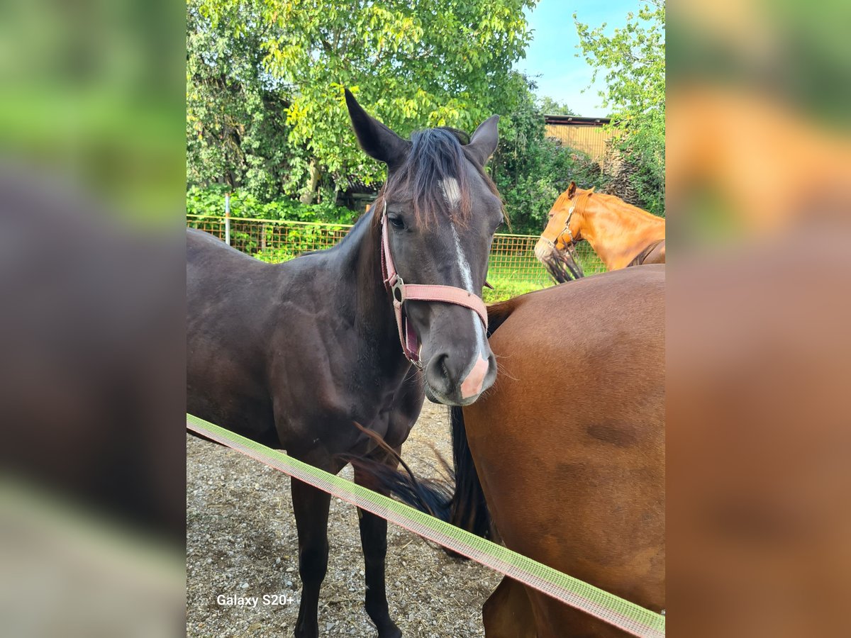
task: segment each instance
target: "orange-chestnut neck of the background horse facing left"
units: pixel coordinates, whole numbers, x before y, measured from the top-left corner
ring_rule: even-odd
[[[623,268],[648,246],[665,237],[665,222],[629,208],[616,211],[603,204],[580,212],[580,235],[609,271]]]

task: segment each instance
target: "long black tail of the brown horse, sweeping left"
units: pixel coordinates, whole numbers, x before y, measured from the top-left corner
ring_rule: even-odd
[[[490,512],[467,445],[462,408],[450,407],[449,418],[452,424],[454,470],[447,466],[448,481],[418,479],[402,459],[399,459],[402,470],[393,470],[386,464],[361,457],[346,457],[345,460],[358,470],[368,472],[378,487],[394,494],[403,503],[477,536],[491,538]],[[448,484],[453,480],[454,489]]]

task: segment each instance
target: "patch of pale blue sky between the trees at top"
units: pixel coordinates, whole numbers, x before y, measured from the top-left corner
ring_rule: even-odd
[[[643,3],[638,0],[540,0],[538,6],[527,12],[533,40],[526,49],[526,59],[515,65],[535,77],[537,94],[567,103],[574,113],[587,117],[607,115],[600,105],[597,91],[605,87],[603,73],[597,83],[591,83],[591,67],[579,53],[573,14],[577,20],[591,27],[607,23],[606,31],[624,26],[626,14],[637,12]],[[582,93],[585,89],[585,93]]]

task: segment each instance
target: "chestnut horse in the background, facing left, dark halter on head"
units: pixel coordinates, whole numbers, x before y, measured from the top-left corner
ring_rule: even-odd
[[[665,263],[665,219],[614,195],[576,188],[570,182],[550,209],[550,221],[535,245],[545,266],[585,239],[608,271],[631,265]],[[573,258],[569,256],[568,262]],[[548,270],[551,268],[548,266]],[[551,270],[558,281],[563,279]]]

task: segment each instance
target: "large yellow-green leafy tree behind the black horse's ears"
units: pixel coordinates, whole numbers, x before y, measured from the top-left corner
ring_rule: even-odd
[[[383,179],[357,149],[344,87],[400,134],[443,125],[469,131],[492,112],[512,111],[522,86],[511,66],[529,39],[523,9],[536,2],[257,0],[243,10],[244,0],[190,0],[201,31],[259,41],[262,59],[248,66],[259,86],[282,96],[284,191],[303,202],[348,175]]]

